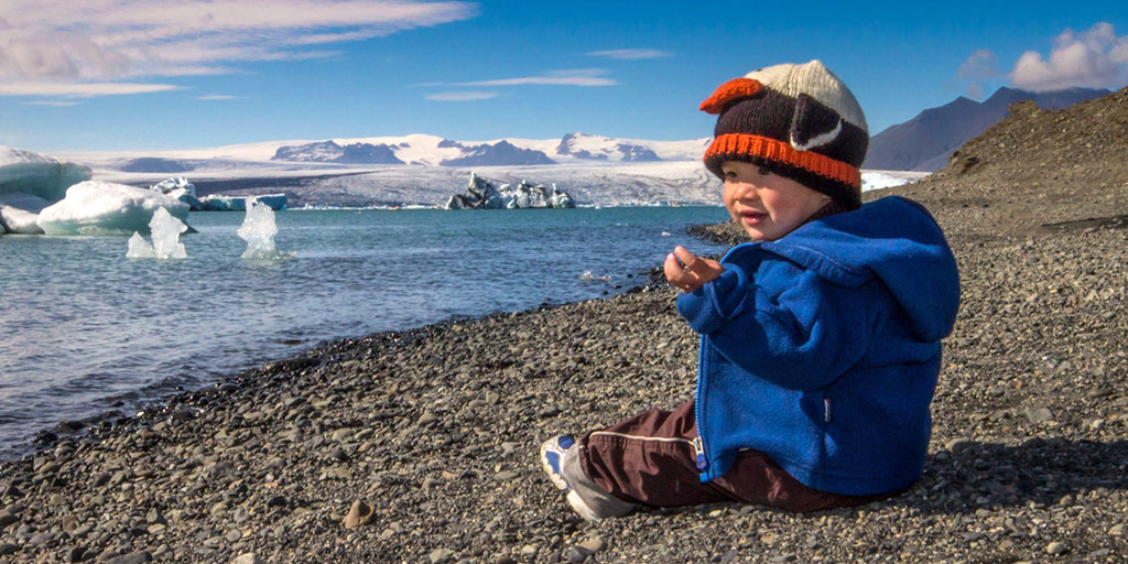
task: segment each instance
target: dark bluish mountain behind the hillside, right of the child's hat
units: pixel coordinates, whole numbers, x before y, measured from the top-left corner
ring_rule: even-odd
[[[872,170],[936,171],[961,144],[1005,117],[1011,104],[1033,100],[1042,109],[1061,109],[1108,94],[1091,88],[1037,94],[999,88],[981,103],[961,96],[870,138],[870,151],[862,166]]]

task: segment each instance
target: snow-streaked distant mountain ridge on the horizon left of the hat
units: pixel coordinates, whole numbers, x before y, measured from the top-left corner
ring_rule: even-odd
[[[697,160],[708,140],[638,141],[588,133],[567,133],[561,140],[502,139],[470,143],[434,135],[379,138],[385,142],[334,140],[277,147],[270,160],[350,165],[532,166],[566,162],[650,162]]]

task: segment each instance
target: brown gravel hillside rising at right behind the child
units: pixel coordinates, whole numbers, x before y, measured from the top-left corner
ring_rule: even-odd
[[[1010,112],[944,169],[869,197],[904,194],[942,224],[982,235],[1086,228],[1128,214],[1128,88],[1066,109],[1021,102]]]

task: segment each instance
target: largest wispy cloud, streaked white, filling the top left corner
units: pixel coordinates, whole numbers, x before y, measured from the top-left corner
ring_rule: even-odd
[[[462,1],[5,0],[0,86],[214,74],[238,63],[324,59],[340,54],[326,45],[476,14],[476,5]]]

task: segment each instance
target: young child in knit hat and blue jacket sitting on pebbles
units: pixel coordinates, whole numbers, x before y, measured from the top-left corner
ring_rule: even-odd
[[[853,94],[819,61],[769,67],[702,103],[705,166],[752,243],[664,264],[702,335],[697,394],[540,459],[585,519],[714,502],[817,511],[888,497],[924,469],[959,274],[927,211],[862,205],[869,144]]]

